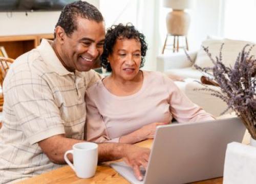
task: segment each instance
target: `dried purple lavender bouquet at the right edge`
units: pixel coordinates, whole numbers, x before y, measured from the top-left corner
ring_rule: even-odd
[[[211,62],[214,63],[213,67],[202,68],[195,64],[197,70],[206,74],[205,77],[207,80],[214,80],[219,84],[222,93],[204,84],[202,84],[204,88],[196,90],[210,91],[211,95],[226,102],[228,108],[222,114],[229,109],[233,109],[237,116],[242,119],[251,137],[256,140],[256,79],[254,77],[256,59],[250,55],[250,51],[254,45],[245,45],[243,50],[238,54],[233,67],[225,66],[222,63],[223,45],[224,43],[221,45],[219,56],[215,58],[211,56],[208,47],[202,46]],[[193,62],[187,53],[186,55]],[[210,71],[212,71],[212,74]]]

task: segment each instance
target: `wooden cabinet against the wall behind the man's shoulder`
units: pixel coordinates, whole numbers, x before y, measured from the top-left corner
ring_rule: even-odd
[[[4,46],[10,58],[16,59],[36,48],[42,38],[53,39],[53,34],[0,36],[0,46]]]

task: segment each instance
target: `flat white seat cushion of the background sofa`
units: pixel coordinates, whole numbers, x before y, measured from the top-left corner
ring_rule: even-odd
[[[178,69],[169,69],[164,72],[165,74],[172,74],[181,76],[184,78],[193,78],[199,79],[202,77],[202,72],[196,70],[194,67],[185,67],[185,68],[178,68]]]

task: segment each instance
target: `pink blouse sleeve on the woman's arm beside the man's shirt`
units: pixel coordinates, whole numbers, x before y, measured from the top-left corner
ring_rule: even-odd
[[[94,143],[119,143],[119,137],[110,139],[108,131],[94,99],[86,93],[87,118],[84,132],[87,141]]]

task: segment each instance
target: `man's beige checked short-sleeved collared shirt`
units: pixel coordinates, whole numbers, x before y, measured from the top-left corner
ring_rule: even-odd
[[[0,183],[17,181],[61,167],[50,162],[38,142],[65,133],[83,139],[86,89],[100,76],[69,72],[43,39],[20,56],[4,81],[3,127],[0,129]]]

